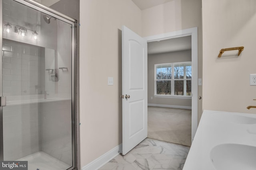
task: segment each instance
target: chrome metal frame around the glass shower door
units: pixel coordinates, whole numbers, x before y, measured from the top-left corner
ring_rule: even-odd
[[[76,24],[77,21],[56,10],[53,10],[34,0],[14,0],[25,6],[38,10],[44,14],[48,14],[72,25],[72,167],[67,170],[77,169],[77,134],[76,134]],[[3,0],[0,0],[0,47],[2,50],[2,18],[3,18]],[[2,57],[0,57],[2,63]],[[0,96],[2,94],[2,64],[0,66]],[[0,160],[4,160],[4,143],[3,143],[3,107],[0,106]]]

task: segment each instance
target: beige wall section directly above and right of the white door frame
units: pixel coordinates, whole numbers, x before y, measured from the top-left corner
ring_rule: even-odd
[[[198,27],[198,78],[202,78],[201,8],[202,0],[172,0],[142,10],[143,37]],[[202,96],[202,86],[198,86],[198,96]],[[202,100],[198,100],[198,122],[201,115]]]

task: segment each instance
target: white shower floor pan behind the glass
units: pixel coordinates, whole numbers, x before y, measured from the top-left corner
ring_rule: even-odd
[[[28,161],[28,170],[66,170],[71,167],[45,152],[36,152],[18,160]]]

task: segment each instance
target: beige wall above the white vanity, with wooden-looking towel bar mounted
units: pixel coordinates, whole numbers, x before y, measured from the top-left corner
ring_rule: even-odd
[[[203,109],[256,113],[256,86],[249,74],[256,73],[256,1],[204,0],[203,21]],[[218,59],[220,49],[244,46],[239,57]]]

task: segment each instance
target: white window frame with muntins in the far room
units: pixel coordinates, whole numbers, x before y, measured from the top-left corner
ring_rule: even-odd
[[[187,93],[186,93],[186,80],[191,80],[191,86],[192,86],[192,78],[186,78],[186,68],[184,69],[184,78],[182,79],[174,79],[174,65],[175,64],[190,64],[190,66],[192,66],[192,62],[191,61],[186,61],[186,62],[178,62],[178,63],[161,63],[161,64],[155,64],[155,74],[154,74],[154,97],[156,98],[189,98],[191,99],[192,98],[192,87],[191,87],[191,96],[186,96]],[[171,65],[172,67],[172,78],[171,79],[161,79],[162,81],[171,81],[171,94],[156,94],[156,81],[160,81],[160,79],[156,79],[156,67],[157,66],[160,66],[160,65]],[[192,68],[191,68],[192,69]],[[184,88],[183,88],[183,91],[184,91],[184,95],[174,95],[174,81],[175,80],[183,80],[184,81]]]

